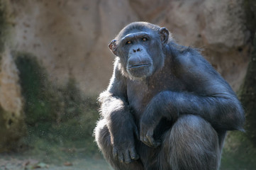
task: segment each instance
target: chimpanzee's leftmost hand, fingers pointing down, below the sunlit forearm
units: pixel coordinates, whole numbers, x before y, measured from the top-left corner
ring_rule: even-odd
[[[139,159],[134,145],[134,134],[138,137],[138,129],[135,123],[126,123],[115,131],[118,133],[113,135],[113,157],[126,164],[132,162],[132,159]]]

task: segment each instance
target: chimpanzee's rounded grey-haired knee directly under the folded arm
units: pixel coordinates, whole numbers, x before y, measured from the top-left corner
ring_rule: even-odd
[[[169,152],[172,170],[218,169],[221,157],[218,134],[199,116],[183,115],[179,118],[165,139],[164,147]]]

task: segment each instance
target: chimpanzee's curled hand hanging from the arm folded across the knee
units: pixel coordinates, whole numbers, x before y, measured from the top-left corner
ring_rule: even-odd
[[[140,140],[149,147],[158,147],[161,144],[153,138],[155,127],[159,123],[160,118],[160,115],[155,113],[155,109],[149,106],[144,111],[143,117],[140,120]]]

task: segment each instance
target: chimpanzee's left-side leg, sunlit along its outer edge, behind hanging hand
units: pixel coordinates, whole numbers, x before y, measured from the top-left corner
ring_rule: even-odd
[[[113,169],[118,170],[128,170],[128,169],[134,169],[134,170],[143,170],[143,164],[140,162],[140,159],[138,161],[133,160],[130,164],[121,163],[117,159],[113,158],[113,146],[111,145],[111,138],[108,131],[108,128],[106,127],[106,121],[100,120],[97,123],[97,126],[94,130],[95,133],[95,139],[96,142],[101,149],[101,152],[104,154],[104,157],[106,161],[111,164]]]

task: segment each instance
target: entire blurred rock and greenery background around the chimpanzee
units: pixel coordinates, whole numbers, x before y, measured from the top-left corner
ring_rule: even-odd
[[[96,98],[112,74],[108,42],[133,21],[203,50],[247,117],[221,169],[256,169],[255,0],[0,0],[0,170],[111,169],[92,136]]]

